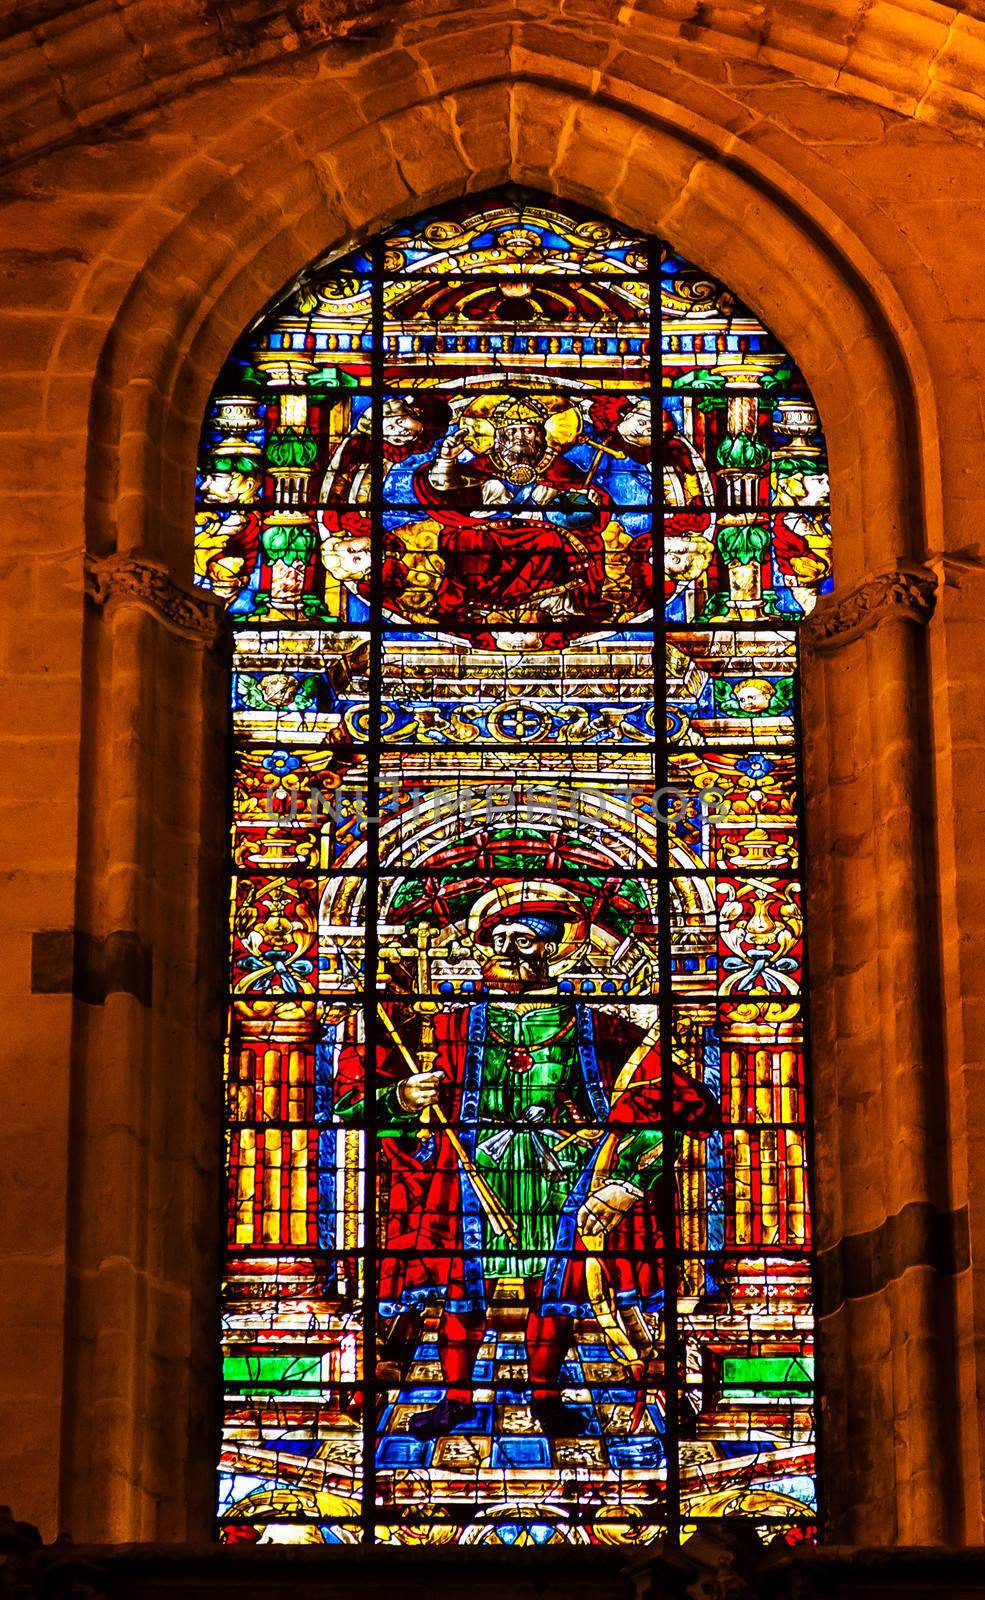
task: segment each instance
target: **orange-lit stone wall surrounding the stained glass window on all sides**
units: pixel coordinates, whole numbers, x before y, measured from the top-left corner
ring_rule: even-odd
[[[209,1525],[224,638],[205,400],[307,259],[516,179],[668,237],[804,368],[836,1538],[982,1539],[985,21],[977,3],[34,0],[0,34],[0,1490]]]

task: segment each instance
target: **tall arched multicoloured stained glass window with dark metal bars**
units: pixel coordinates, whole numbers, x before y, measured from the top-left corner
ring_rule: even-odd
[[[305,270],[201,440],[229,606],[227,1541],[812,1536],[795,363],[502,192]]]

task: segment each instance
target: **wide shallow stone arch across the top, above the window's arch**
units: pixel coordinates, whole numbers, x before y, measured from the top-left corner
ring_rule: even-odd
[[[393,43],[414,48],[441,30],[454,38],[453,51],[462,35],[481,40],[475,54],[502,48],[505,40],[516,56],[512,67],[521,69],[548,26],[561,46],[556,54],[580,66],[587,85],[595,70],[585,54],[590,38],[595,61],[606,51],[614,54],[625,42],[643,59],[664,54],[670,61],[684,54],[696,64],[723,58],[755,62],[793,72],[804,83],[852,93],[873,106],[959,128],[972,138],[979,136],[983,110],[975,59],[982,21],[972,8],[948,6],[943,0],[927,0],[919,8],[907,0],[857,0],[854,11],[804,0],[796,13],[776,0],[737,0],[718,13],[708,13],[700,0],[689,6],[649,0],[632,13],[617,3],[601,3],[571,18],[558,18],[550,0],[544,0],[539,8],[524,6],[521,14],[510,5],[488,6],[478,21],[469,0],[446,0],[424,18],[409,18],[405,29],[392,0],[374,6],[312,0],[259,13],[248,0],[227,0],[211,11],[185,0],[173,6],[163,37],[154,0],[134,0],[130,13],[86,38],[83,51],[91,72],[78,75],[78,34],[85,21],[75,27],[59,19],[51,30],[42,22],[29,37],[24,29],[18,40],[21,72],[0,130],[13,158],[62,146],[80,128],[101,128],[109,118],[139,115],[150,104],[187,96],[230,70],[275,70],[278,64],[293,66],[318,53],[328,54],[333,67],[347,66],[353,54],[371,56]]]

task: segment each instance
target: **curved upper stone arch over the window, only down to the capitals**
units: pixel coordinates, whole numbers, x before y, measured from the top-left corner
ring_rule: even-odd
[[[154,498],[162,496],[162,483],[149,477],[152,464],[139,448],[147,426],[160,422],[162,462],[177,475],[166,502],[173,506],[176,486],[190,504],[187,440],[197,437],[211,373],[240,328],[309,259],[406,211],[425,192],[416,178],[429,160],[441,171],[441,181],[427,189],[430,202],[505,179],[550,184],[585,203],[598,203],[604,194],[609,210],[662,229],[681,248],[688,243],[692,259],[708,267],[728,254],[737,291],[761,312],[776,302],[784,266],[793,278],[809,261],[819,275],[811,283],[790,283],[790,298],[774,306],[777,331],[796,347],[828,427],[838,434],[851,403],[868,406],[867,430],[862,440],[854,435],[854,445],[870,454],[854,483],[844,486],[884,494],[879,458],[883,472],[897,474],[889,486],[892,525],[879,518],[883,547],[865,550],[859,542],[875,538],[865,506],[849,501],[843,507],[843,525],[859,530],[846,576],[854,579],[903,554],[918,558],[921,549],[935,547],[940,464],[929,366],[889,274],[830,205],[707,117],[657,94],[636,93],[644,104],[633,104],[633,86],[625,82],[585,102],[550,74],[548,61],[537,64],[540,74],[508,83],[467,80],[454,99],[448,93],[419,98],[419,85],[413,85],[385,123],[336,142],[329,142],[331,109],[323,109],[304,134],[291,130],[267,142],[232,184],[197,194],[193,210],[133,275],[102,349],[88,458],[90,550],[150,554],[157,544],[157,554],[165,555]],[[475,126],[489,131],[481,165],[461,136],[462,128]],[[552,160],[537,154],[544,149],[552,150]],[[368,189],[374,163],[377,181]],[[174,200],[165,186],[154,197],[155,208],[176,211],[185,182],[185,174],[174,181]],[[219,216],[224,226],[209,229],[209,219]],[[745,222],[739,234],[736,216]],[[141,235],[144,219],[134,216],[130,229]],[[91,280],[99,282],[96,267]],[[75,309],[82,317],[88,312],[86,285]],[[894,435],[900,448],[894,448]],[[839,440],[833,448],[841,451]]]

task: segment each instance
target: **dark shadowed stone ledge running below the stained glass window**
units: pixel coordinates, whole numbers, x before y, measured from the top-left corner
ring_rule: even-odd
[[[764,1546],[748,1523],[699,1525],[678,1549],[42,1546],[0,1507],[3,1600],[979,1600],[985,1549]]]

